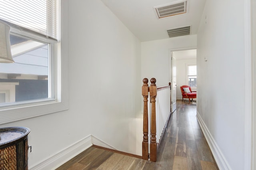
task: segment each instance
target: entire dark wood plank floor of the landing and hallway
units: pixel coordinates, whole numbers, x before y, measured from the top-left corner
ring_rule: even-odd
[[[150,162],[90,147],[57,170],[218,170],[196,119],[196,105],[177,101],[158,147],[157,162]]]

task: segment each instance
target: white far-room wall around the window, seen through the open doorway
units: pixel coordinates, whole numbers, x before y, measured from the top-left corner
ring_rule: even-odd
[[[196,65],[196,59],[177,59],[176,60],[176,72],[177,72],[176,99],[182,99],[180,86],[188,85],[188,83],[186,83],[186,78],[187,78],[186,67],[188,65]],[[184,100],[188,100],[188,99],[184,99]]]

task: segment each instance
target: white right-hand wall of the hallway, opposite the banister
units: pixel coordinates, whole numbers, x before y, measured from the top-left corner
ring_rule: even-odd
[[[244,0],[207,0],[197,37],[198,117],[220,169],[245,167],[243,7]]]

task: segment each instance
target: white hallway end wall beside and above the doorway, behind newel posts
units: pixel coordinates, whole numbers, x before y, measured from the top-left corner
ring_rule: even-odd
[[[171,82],[170,51],[193,49],[196,47],[196,35],[181,36],[141,43],[141,79],[156,78],[157,86],[166,86]],[[142,80],[141,80],[142,82]]]

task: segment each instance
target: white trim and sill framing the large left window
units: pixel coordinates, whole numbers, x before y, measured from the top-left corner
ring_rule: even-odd
[[[44,101],[25,105],[15,105],[0,108],[0,125],[14,121],[48,115],[68,109],[68,0],[60,1],[60,51],[55,54],[56,79],[54,101]],[[61,56],[61,57],[60,57]]]

